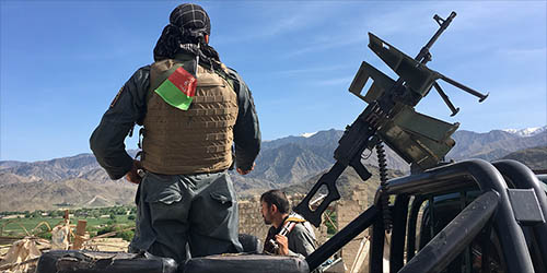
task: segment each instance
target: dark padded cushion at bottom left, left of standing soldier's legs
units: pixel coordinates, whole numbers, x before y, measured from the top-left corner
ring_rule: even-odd
[[[36,273],[174,273],[177,263],[171,258],[150,253],[51,250],[42,254]]]

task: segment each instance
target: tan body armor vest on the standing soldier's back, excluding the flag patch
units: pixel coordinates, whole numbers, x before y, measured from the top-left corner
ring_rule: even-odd
[[[224,78],[198,66],[196,96],[188,110],[168,105],[154,90],[181,66],[167,59],[150,68],[142,166],[164,175],[225,170],[232,164],[237,95]]]

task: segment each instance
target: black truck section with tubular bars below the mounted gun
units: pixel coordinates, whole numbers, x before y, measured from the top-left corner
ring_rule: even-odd
[[[547,272],[545,183],[523,164],[464,161],[392,179],[387,189],[396,200],[389,210],[389,270],[382,263],[386,233],[379,194],[374,205],[306,259],[310,268],[372,226],[371,273]]]

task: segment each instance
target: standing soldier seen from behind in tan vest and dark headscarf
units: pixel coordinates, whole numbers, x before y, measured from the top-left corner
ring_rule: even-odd
[[[91,135],[91,150],[109,177],[139,183],[131,252],[182,263],[242,250],[226,169],[233,143],[237,173],[253,169],[260,132],[251,91],[220,61],[210,31],[201,7],[175,8],[154,48],[155,62],[126,82]],[[135,123],[143,126],[142,162],[125,151]]]

